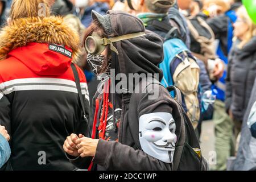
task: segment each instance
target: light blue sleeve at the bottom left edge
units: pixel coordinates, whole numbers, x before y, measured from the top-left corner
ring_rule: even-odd
[[[11,148],[9,146],[9,143],[3,137],[3,135],[0,134],[0,168],[7,162],[7,160],[10,158],[11,155]]]

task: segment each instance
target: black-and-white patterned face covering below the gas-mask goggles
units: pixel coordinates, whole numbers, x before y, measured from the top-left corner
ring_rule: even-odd
[[[90,68],[92,69],[93,73],[95,73],[96,76],[98,77],[98,80],[100,80],[100,81],[108,80],[108,78],[110,77],[111,63],[109,63],[109,65],[104,73],[100,73],[102,70],[102,65],[104,64],[104,61],[105,61],[105,56],[92,55],[92,54],[88,53],[87,61],[88,61],[88,64],[90,65]]]

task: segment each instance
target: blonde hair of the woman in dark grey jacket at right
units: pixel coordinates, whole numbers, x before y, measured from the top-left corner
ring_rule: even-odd
[[[237,16],[249,26],[249,30],[246,31],[244,39],[238,45],[238,48],[241,49],[243,48],[243,46],[245,46],[246,43],[248,43],[251,40],[253,36],[256,36],[256,24],[254,24],[253,21],[251,20],[250,16],[248,15],[245,9],[245,6],[241,6],[237,10]]]

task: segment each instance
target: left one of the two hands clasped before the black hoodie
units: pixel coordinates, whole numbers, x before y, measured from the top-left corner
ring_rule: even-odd
[[[76,141],[79,139],[79,137],[76,134],[71,134],[67,139],[65,140],[63,144],[63,149],[65,152],[67,152],[69,155],[77,157],[79,156],[79,152],[76,148]]]

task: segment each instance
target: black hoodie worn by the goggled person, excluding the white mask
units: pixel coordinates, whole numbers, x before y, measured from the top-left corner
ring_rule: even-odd
[[[115,36],[132,34],[135,32],[145,32],[142,21],[130,14],[121,11],[109,11],[111,26]],[[147,32],[139,38],[122,40],[114,44],[119,55],[113,60],[117,60],[121,73],[158,73],[162,79],[162,72],[158,64],[163,60],[163,42],[158,35]],[[172,164],[164,163],[142,151],[139,143],[139,117],[143,114],[155,112],[172,113],[172,100],[168,91],[160,85],[154,85],[154,89],[159,90],[159,97],[149,100],[147,93],[121,95],[121,121],[118,132],[118,142],[100,139],[98,142],[96,155],[93,162],[99,169],[106,170],[171,170]],[[102,96],[96,94],[96,98]],[[114,94],[118,98],[117,94]],[[130,107],[129,107],[130,104]],[[94,103],[95,105],[95,103]],[[101,106],[100,106],[101,108]],[[95,108],[94,108],[95,110]],[[179,118],[172,113],[175,121]],[[99,117],[96,118],[97,123]],[[98,126],[98,125],[97,125]],[[178,126],[176,126],[178,127]],[[176,134],[179,138],[179,134]],[[88,167],[88,159],[77,158],[71,160],[79,168]],[[96,169],[96,168],[94,168]]]

